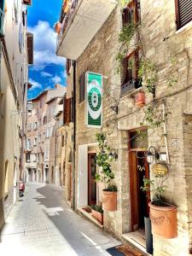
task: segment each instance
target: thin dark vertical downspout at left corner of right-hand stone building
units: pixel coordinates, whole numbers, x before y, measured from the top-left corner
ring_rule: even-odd
[[[73,61],[73,211],[75,210],[76,61]]]

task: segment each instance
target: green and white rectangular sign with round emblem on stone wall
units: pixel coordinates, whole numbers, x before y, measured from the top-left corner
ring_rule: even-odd
[[[102,74],[85,73],[85,125],[102,127]]]

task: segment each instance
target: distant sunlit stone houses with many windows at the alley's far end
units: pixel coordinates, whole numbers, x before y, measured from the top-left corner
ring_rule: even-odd
[[[65,88],[55,84],[32,99],[26,129],[26,181],[55,183],[55,113]]]

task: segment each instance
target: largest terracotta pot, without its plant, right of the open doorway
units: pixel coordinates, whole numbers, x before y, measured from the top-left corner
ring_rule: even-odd
[[[177,207],[154,206],[151,202],[148,206],[150,207],[152,234],[166,239],[177,237]]]

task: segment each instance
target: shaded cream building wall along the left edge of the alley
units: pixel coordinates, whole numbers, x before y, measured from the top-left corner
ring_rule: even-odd
[[[33,62],[27,5],[31,1],[0,3],[0,229],[17,200],[24,172],[28,65]]]

